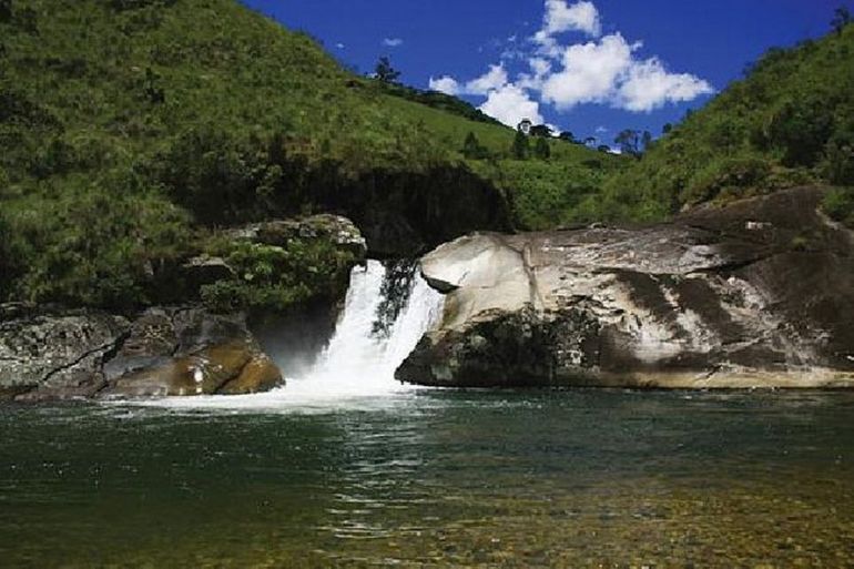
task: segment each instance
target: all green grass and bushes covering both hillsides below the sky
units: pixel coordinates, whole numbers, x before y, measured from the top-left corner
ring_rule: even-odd
[[[621,133],[636,160],[569,132],[521,135],[398,84],[387,60],[377,79],[355,75],[234,0],[0,0],[0,301],[157,303],[218,228],[301,213],[395,226],[418,212],[410,225],[449,238],[486,210],[484,195],[494,219],[542,230],[852,186],[850,20],[840,12],[827,38],[772,50],[660,141]],[[840,190],[825,209],[851,223],[851,203]],[[313,246],[218,254],[242,272],[204,291],[222,307],[326,294],[347,262]]]

